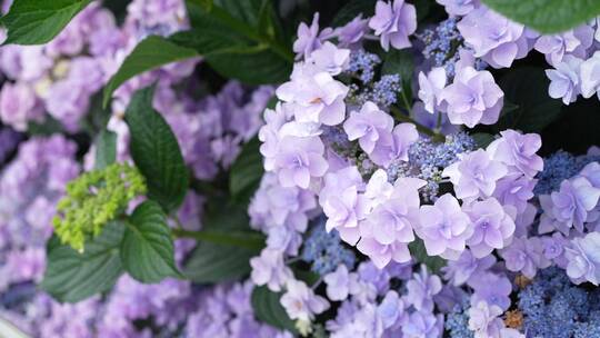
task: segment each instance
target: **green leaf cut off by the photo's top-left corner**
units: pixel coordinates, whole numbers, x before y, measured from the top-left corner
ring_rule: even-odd
[[[2,17],[3,44],[42,44],[52,40],[91,0],[14,0]]]

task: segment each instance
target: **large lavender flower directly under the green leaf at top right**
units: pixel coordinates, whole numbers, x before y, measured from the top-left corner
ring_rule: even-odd
[[[510,67],[516,59],[524,58],[530,50],[522,24],[481,6],[469,12],[458,29],[477,58],[494,68]]]

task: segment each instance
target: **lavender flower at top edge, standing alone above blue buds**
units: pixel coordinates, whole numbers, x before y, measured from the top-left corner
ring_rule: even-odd
[[[411,46],[409,36],[417,30],[417,10],[404,0],[392,3],[378,1],[376,14],[369,20],[376,36],[381,36],[381,47],[388,51],[390,44],[396,49]]]

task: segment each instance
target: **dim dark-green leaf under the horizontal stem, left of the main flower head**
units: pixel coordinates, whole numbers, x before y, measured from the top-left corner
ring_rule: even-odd
[[[250,258],[259,252],[203,241],[186,261],[183,274],[190,280],[201,284],[238,280],[250,274]]]

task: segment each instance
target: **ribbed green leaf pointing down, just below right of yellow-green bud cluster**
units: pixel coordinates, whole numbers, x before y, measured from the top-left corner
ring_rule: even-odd
[[[126,223],[121,260],[131,277],[147,284],[181,277],[167,216],[158,203],[148,200],[139,205]]]

